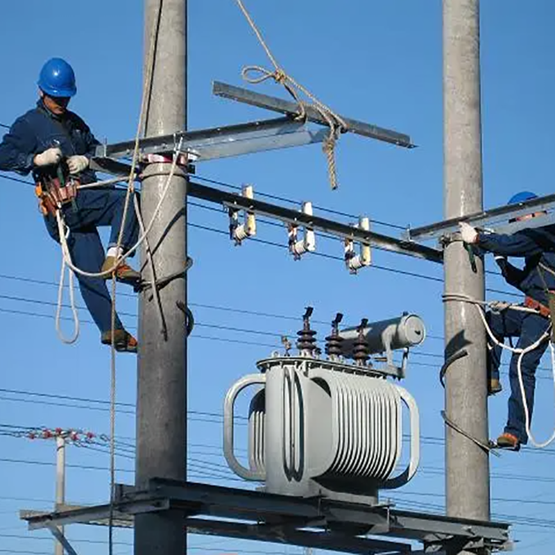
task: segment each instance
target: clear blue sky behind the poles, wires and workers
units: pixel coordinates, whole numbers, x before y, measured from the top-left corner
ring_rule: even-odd
[[[290,74],[337,111],[409,133],[420,148],[407,151],[361,137],[343,137],[338,149],[340,189],[334,192],[330,191],[325,160],[318,146],[207,162],[198,166],[199,175],[235,185],[250,182],[257,191],[312,200],[317,205],[352,214],[364,213],[400,225],[441,219],[441,2],[250,0],[247,5],[275,56]],[[78,95],[71,108],[89,123],[99,139],[108,137],[115,142],[133,137],[142,67],[139,6],[141,3],[136,0],[97,0],[94,6],[69,0],[53,4],[36,0],[3,3],[0,123],[12,123],[34,105],[35,82],[42,63],[51,56],[62,56],[74,65],[78,79]],[[234,105],[210,94],[213,79],[241,85],[243,65],[266,64],[262,49],[234,1],[189,0],[189,11],[190,128],[272,117],[262,110]],[[538,194],[553,192],[554,17],[555,4],[549,0],[482,4],[486,206],[505,203],[522,189]],[[277,86],[259,90],[282,95]],[[0,207],[3,237],[0,424],[76,427],[106,434],[107,405],[31,395],[108,400],[110,353],[99,345],[96,328],[85,323],[89,316],[84,310],[80,311],[84,323],[78,344],[67,347],[58,341],[52,319],[54,307],[35,302],[56,302],[53,284],[58,280],[58,247],[46,235],[32,187],[5,179],[0,182],[4,192]],[[219,230],[228,225],[225,214],[198,207],[189,209],[189,219],[191,223]],[[377,225],[375,230],[398,233]],[[281,244],[287,240],[284,229],[268,225],[259,225],[259,237]],[[363,316],[370,320],[395,316],[404,310],[425,319],[433,337],[413,352],[409,378],[404,385],[418,401],[422,436],[427,439],[422,445],[418,476],[406,488],[392,492],[391,497],[407,509],[441,509],[443,390],[437,370],[443,357],[443,343],[435,339],[443,335],[441,268],[375,251],[376,266],[354,277],[339,261],[313,256],[293,262],[283,249],[256,243],[234,248],[224,235],[198,228],[189,230],[189,249],[195,259],[189,274],[189,300],[197,305],[300,317],[305,305],[311,304],[316,320],[330,321],[336,311],[342,311],[348,323],[357,323]],[[342,246],[339,241],[321,239],[318,251],[341,256]],[[436,280],[392,273],[384,267]],[[26,279],[47,284],[34,284]],[[488,287],[509,291],[502,280],[491,276]],[[119,291],[129,293],[123,288]],[[495,297],[499,298],[499,294]],[[131,315],[124,320],[133,327],[137,311],[133,296],[120,297],[119,307]],[[294,334],[300,320],[253,316],[237,310],[192,308],[198,326],[189,349],[189,409],[196,411],[189,420],[190,477],[240,486],[222,467],[225,461],[220,454],[220,418],[199,412],[221,413],[230,384],[253,372],[255,361],[278,344],[277,334]],[[256,333],[217,330],[208,325]],[[328,331],[327,325],[317,327],[320,337]],[[549,361],[546,359],[542,366],[547,368]],[[133,357],[118,357],[119,402],[135,402],[135,377]],[[540,370],[539,377],[533,427],[544,437],[554,422],[553,388],[547,370]],[[506,375],[502,378],[506,390]],[[506,398],[504,391],[490,401],[491,437],[496,437],[504,424]],[[121,408],[117,436],[120,441],[133,443],[132,407]],[[552,448],[503,454],[502,458],[492,460],[493,514],[499,519],[519,522],[513,528],[519,553],[552,553],[549,545],[555,540],[554,455]],[[6,459],[53,463],[53,444],[1,436],[0,459],[1,550],[50,553],[48,540],[33,539],[47,538],[46,533],[28,533],[17,518],[17,510],[49,506],[47,501],[53,499],[54,493],[54,468]],[[75,447],[68,451],[68,463],[107,469],[108,454]],[[118,468],[119,481],[131,483],[133,460],[119,459]],[[108,499],[108,470],[69,468],[67,499],[83,503]],[[538,519],[547,519],[549,527]],[[78,526],[70,527],[68,536],[75,540],[106,538],[103,530]],[[117,540],[122,545],[117,545],[116,553],[131,552],[129,532],[119,531]],[[76,546],[83,555],[105,548],[78,542]],[[297,547],[190,538],[191,552],[201,551],[192,548],[202,546],[222,552],[241,549],[300,552]]]

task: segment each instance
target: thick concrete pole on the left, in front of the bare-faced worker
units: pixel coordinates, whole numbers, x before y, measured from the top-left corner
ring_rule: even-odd
[[[187,126],[187,0],[145,0],[144,9],[147,58],[153,26],[158,26],[146,135],[171,134]],[[153,216],[167,180],[167,176],[154,174],[167,173],[169,169],[169,163],[146,168],[142,182],[145,225]],[[185,268],[186,195],[187,179],[178,170],[148,237],[158,278]],[[145,259],[143,250],[142,267],[147,270],[148,280]],[[184,315],[176,306],[178,300],[187,304],[187,280],[173,280],[160,291],[160,298],[167,339],[161,333],[155,303],[148,301],[148,290],[139,299],[137,486],[152,477],[184,480],[187,474],[187,341]],[[135,555],[183,555],[183,522],[182,511],[137,515]]]

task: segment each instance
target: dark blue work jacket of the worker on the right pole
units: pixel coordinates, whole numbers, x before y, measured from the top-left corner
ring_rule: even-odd
[[[479,233],[481,250],[505,257],[524,258],[524,268],[499,264],[506,282],[524,295],[548,305],[547,289],[555,290],[555,225],[525,229],[511,235]]]

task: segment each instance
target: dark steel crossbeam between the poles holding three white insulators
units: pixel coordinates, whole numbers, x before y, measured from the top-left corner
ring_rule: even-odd
[[[241,195],[221,191],[220,189],[208,187],[207,185],[190,182],[188,193],[195,198],[202,198],[203,200],[209,200],[213,203],[236,208],[237,210],[250,210],[260,216],[278,218],[286,223],[306,225],[311,229],[335,235],[340,239],[354,239],[355,241],[361,241],[375,248],[389,250],[393,253],[423,258],[431,262],[439,263],[441,263],[443,259],[443,253],[436,248],[418,245],[411,241],[404,241],[403,239],[395,239],[394,237],[388,237],[387,235],[372,231],[361,230],[345,223],[339,223],[318,216],[309,216],[296,210],[265,203],[262,200],[244,198]]]

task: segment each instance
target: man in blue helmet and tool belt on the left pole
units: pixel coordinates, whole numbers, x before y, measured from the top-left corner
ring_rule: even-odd
[[[37,107],[29,110],[13,123],[10,131],[0,143],[0,169],[15,171],[21,175],[33,172],[37,191],[55,192],[56,176],[67,182],[76,179],[81,184],[96,181],[89,169],[89,162],[99,142],[94,138],[83,119],[67,110],[72,96],[77,92],[74,70],[61,58],[48,60],[40,71],[40,99]],[[62,172],[60,174],[60,171]],[[138,224],[133,202],[126,214],[121,248],[117,241],[126,191],[121,189],[83,189],[62,187],[63,198],[49,194],[42,196],[41,207],[44,223],[50,236],[60,241],[56,222],[56,205],[51,200],[60,200],[60,210],[69,228],[68,247],[73,263],[83,271],[99,273],[114,268],[117,257],[132,247],[138,238]],[[132,199],[133,200],[133,199]],[[98,226],[110,225],[110,243],[107,253],[96,230]],[[112,342],[112,301],[105,279],[77,275],[83,300],[99,327],[101,343]],[[120,282],[135,284],[140,275],[125,263],[119,264],[116,278]],[[116,316],[115,347],[119,352],[137,352],[137,340],[129,334]]]

